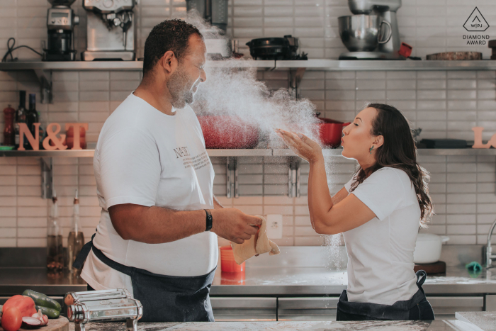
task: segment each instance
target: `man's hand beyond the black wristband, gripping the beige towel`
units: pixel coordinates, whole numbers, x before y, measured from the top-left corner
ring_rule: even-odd
[[[236,208],[223,208],[210,210],[213,223],[212,232],[237,244],[249,240],[259,230],[261,219],[257,216],[247,215]]]

